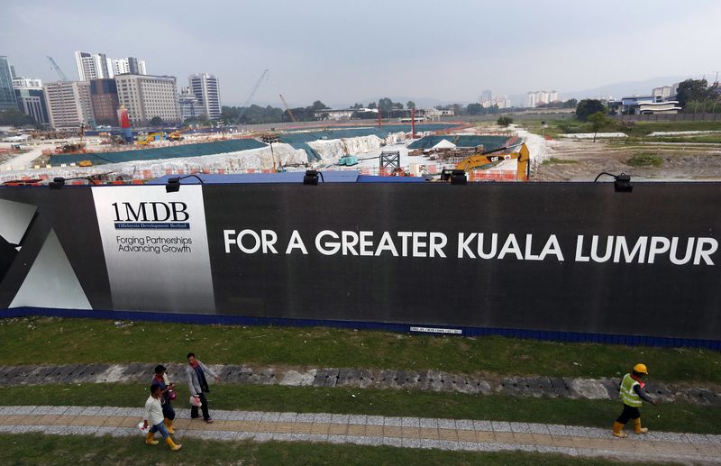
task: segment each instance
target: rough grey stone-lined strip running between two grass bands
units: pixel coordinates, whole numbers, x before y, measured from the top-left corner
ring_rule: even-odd
[[[164,363],[171,381],[185,385],[185,365]],[[148,382],[155,364],[67,364],[0,366],[0,386],[50,383]],[[418,389],[468,394],[525,397],[617,399],[618,379],[567,377],[478,378],[435,370],[367,370],[348,368],[275,368],[242,365],[211,366],[223,383],[289,387]],[[676,401],[721,406],[721,394],[704,387],[674,387],[649,380],[646,390],[664,403]]]

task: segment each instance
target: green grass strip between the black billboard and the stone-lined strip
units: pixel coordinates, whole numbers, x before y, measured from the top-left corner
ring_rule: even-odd
[[[46,317],[0,319],[3,365],[185,363],[397,370],[469,375],[620,377],[636,362],[664,382],[721,384],[721,353],[703,349],[442,337],[326,327],[188,325]]]

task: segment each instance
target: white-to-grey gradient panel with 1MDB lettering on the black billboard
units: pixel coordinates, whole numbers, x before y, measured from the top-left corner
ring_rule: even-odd
[[[201,186],[93,187],[115,309],[214,312]]]

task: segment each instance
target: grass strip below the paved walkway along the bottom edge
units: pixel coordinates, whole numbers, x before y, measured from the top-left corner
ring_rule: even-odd
[[[2,464],[518,464],[605,465],[605,459],[579,459],[559,454],[525,452],[449,452],[388,446],[334,445],[328,443],[219,442],[184,439],[183,449],[170,452],[166,445],[145,445],[137,438],[77,435],[0,434]],[[624,464],[634,464],[624,462]]]

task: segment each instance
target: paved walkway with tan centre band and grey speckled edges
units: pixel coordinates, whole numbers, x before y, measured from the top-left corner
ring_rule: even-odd
[[[212,412],[214,424],[189,419],[177,409],[174,437],[222,441],[354,443],[471,452],[555,452],[623,460],[721,463],[721,435],[629,433],[617,439],[608,430],[569,425],[508,423],[418,417],[352,416],[324,413]],[[0,433],[133,437],[142,408],[0,407]],[[628,429],[627,429],[628,430]]]

